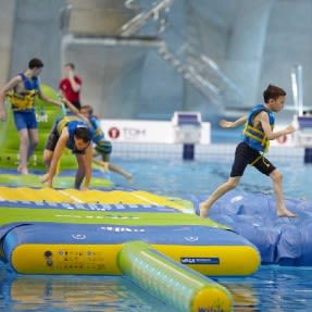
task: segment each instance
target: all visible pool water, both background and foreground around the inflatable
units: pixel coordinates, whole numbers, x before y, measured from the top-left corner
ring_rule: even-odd
[[[133,187],[160,195],[208,195],[228,176],[232,163],[215,159],[185,162],[180,159],[122,159],[114,163],[130,171]],[[285,195],[312,201],[309,186],[312,166],[289,160],[275,163],[284,173]],[[116,184],[123,177],[111,174]],[[271,182],[248,170],[239,189],[272,194]],[[246,278],[219,278],[234,296],[235,311],[309,311],[312,304],[310,267],[262,266]],[[0,267],[0,311],[155,311],[176,312],[123,277],[16,276]]]

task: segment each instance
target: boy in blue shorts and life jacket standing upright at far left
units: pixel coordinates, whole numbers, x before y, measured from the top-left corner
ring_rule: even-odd
[[[27,161],[38,145],[38,125],[34,109],[35,96],[38,95],[41,100],[62,107],[61,101],[50,99],[42,93],[39,80],[42,68],[41,60],[32,59],[26,72],[13,77],[0,90],[0,118],[7,121],[4,99],[8,95],[20,136],[20,165],[17,171],[21,174],[28,174]]]

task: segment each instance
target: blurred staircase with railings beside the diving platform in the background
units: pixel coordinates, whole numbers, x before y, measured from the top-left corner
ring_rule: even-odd
[[[132,1],[132,3],[136,1]],[[187,36],[182,35],[173,25],[169,24],[166,15],[173,2],[174,0],[162,0],[149,8],[141,9],[139,14],[121,27],[120,36],[124,38],[136,36],[151,20],[158,22],[160,32],[157,35],[162,39],[158,52],[162,59],[176,68],[185,80],[195,86],[222,113],[225,114],[226,111],[227,114],[234,114],[235,108],[242,103],[241,91],[213,60],[200,52],[198,35],[191,21],[186,23]],[[192,14],[186,15],[187,18]]]

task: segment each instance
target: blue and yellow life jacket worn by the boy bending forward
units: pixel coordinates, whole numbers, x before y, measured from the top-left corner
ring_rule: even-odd
[[[66,147],[72,151],[76,150],[74,136],[77,128],[87,128],[89,129],[91,137],[93,136],[93,130],[78,116],[70,115],[57,121],[57,132],[59,135],[61,135],[64,127],[67,127],[70,134]]]

